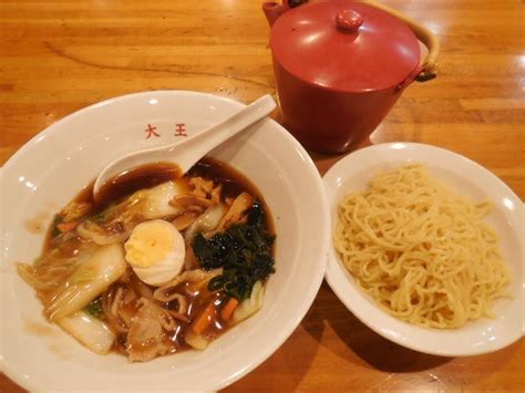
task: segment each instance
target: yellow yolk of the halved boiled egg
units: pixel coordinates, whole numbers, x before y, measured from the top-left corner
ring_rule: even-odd
[[[124,246],[127,262],[138,268],[161,262],[169,254],[174,242],[173,230],[163,223],[145,224],[133,230]]]

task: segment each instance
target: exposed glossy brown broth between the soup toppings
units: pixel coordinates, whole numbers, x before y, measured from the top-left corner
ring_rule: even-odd
[[[222,199],[224,200],[227,197],[236,197],[243,192],[248,192],[251,194],[256,199],[260,201],[262,205],[265,213],[266,213],[266,225],[267,229],[270,234],[275,234],[274,221],[271,219],[271,215],[269,209],[265,203],[265,199],[257,187],[240,172],[237,169],[228,166],[225,163],[222,163],[217,159],[205,157],[202,158],[189,172],[189,176],[200,176],[208,180],[213,180],[216,184],[223,185],[223,195]],[[111,179],[103,188],[100,190],[96,200],[93,199],[93,183],[86,186],[82,192],[73,199],[73,201],[78,203],[89,203],[92,205],[92,209],[86,217],[91,217],[100,211],[102,211],[105,207],[113,203],[119,203],[125,196],[143,188],[152,188],[168,180],[177,180],[181,178],[181,170],[176,165],[169,163],[156,163],[145,165],[132,170],[128,170],[124,174],[116,176],[115,178]],[[53,226],[48,231],[47,241],[44,245],[44,251],[50,250],[53,247],[56,247],[56,238],[53,239]],[[59,246],[61,248],[61,254],[64,256],[73,256],[76,252],[76,249],[82,247],[82,241],[80,238],[74,237],[64,244]],[[135,273],[131,270],[125,280],[125,286],[133,290],[137,297],[140,298],[142,294],[138,293],[137,286],[132,285],[133,280],[137,281],[138,278]],[[142,282],[142,281],[141,281]],[[123,282],[115,282],[113,286],[122,286]],[[146,283],[142,283],[143,286],[147,287],[152,292],[156,289],[155,287],[151,287]],[[113,287],[112,286],[112,287]],[[109,290],[111,290],[111,288]],[[213,301],[216,304],[215,314],[213,316],[212,323],[205,330],[203,335],[207,337],[208,339],[215,339],[218,335],[223,334],[225,331],[228,330],[228,322],[224,321],[220,317],[222,309],[226,304],[228,298],[224,292],[209,292],[206,287],[200,289],[199,294],[192,296],[189,288],[194,287],[194,285],[188,282],[182,282],[177,286],[178,293],[185,293],[186,299],[188,301],[188,311],[186,312],[186,317],[193,321],[194,318],[200,314],[204,309]],[[43,301],[44,299],[42,299]],[[176,306],[172,304],[171,302],[164,303],[163,307],[165,309],[175,311]],[[136,311],[136,310],[135,310]],[[166,339],[171,341],[173,344],[172,353],[179,352],[183,350],[192,349],[188,344],[184,341],[184,335],[186,330],[191,329],[191,323],[178,321],[179,328],[173,332],[172,334],[166,333]],[[125,354],[125,334],[117,333],[117,340],[114,344],[113,350],[117,353]]]

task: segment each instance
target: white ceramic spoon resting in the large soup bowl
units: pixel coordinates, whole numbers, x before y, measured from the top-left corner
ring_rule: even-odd
[[[275,107],[274,99],[267,94],[222,123],[204,130],[187,139],[134,152],[117,158],[101,172],[93,186],[93,195],[96,198],[101,187],[112,177],[144,164],[171,162],[177,164],[182,174],[185,174],[206,153],[266,117]]]

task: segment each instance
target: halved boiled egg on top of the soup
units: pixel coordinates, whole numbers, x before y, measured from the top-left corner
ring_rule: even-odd
[[[142,281],[155,287],[181,273],[186,252],[181,232],[163,219],[138,224],[124,249],[133,271]]]

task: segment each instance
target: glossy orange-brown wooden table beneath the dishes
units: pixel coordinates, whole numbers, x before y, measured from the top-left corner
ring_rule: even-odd
[[[525,198],[518,0],[389,0],[441,40],[441,73],[405,91],[373,143],[423,142],[484,165]],[[249,102],[274,93],[258,0],[0,2],[0,164],[83,106],[158,89]],[[340,156],[313,155],[323,174]],[[226,391],[525,390],[525,341],[474,358],[393,344],[323,283],[294,334]],[[22,391],[0,375],[1,392]]]

